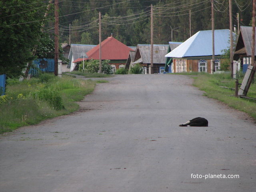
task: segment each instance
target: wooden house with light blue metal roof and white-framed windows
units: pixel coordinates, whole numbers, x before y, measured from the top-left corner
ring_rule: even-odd
[[[235,34],[234,34],[235,35]],[[220,70],[222,50],[230,46],[230,30],[214,30],[215,71]],[[198,31],[166,54],[173,59],[174,72],[212,73],[212,30]]]

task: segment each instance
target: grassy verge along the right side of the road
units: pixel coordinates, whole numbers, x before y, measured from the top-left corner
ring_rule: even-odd
[[[194,75],[193,85],[203,90],[205,96],[224,102],[228,106],[246,112],[256,119],[256,101],[234,96],[235,91],[233,88],[235,88],[235,80],[230,77],[230,74],[211,75],[193,73],[192,75]],[[239,79],[239,83],[242,83],[242,78]],[[250,86],[247,96],[256,98],[255,83]]]

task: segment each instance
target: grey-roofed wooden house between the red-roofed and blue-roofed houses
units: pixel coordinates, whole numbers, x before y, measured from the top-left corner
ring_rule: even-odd
[[[151,74],[164,73],[166,58],[164,57],[168,51],[169,45],[154,44],[153,45],[153,71]],[[150,44],[138,44],[135,52],[134,62],[132,64],[139,63],[143,67],[143,73],[150,73],[151,63],[151,45]]]

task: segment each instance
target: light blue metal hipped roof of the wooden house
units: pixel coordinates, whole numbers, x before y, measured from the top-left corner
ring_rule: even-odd
[[[229,48],[230,30],[214,30],[214,52],[221,55],[222,50]],[[182,58],[212,55],[212,30],[198,31],[177,48],[166,54],[166,57]]]

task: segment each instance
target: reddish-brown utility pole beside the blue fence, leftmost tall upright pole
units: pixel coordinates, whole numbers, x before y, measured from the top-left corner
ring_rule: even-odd
[[[55,0],[54,3],[54,15],[55,15],[55,24],[54,24],[54,74],[57,76],[58,75],[58,58],[59,58],[59,12],[58,8],[59,7],[59,2],[58,0]]]

